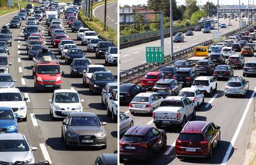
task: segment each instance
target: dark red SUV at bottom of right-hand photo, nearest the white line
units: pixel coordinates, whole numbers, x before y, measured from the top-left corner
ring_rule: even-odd
[[[176,140],[176,156],[179,159],[185,157],[211,158],[213,149],[220,143],[220,138],[220,127],[213,122],[187,122]]]

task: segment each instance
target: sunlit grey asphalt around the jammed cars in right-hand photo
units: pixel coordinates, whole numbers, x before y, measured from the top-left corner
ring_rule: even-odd
[[[256,61],[256,58],[245,57],[245,61],[249,60]],[[235,70],[234,73],[242,76],[242,70]],[[172,145],[172,147],[168,147],[166,150],[156,154],[155,159],[151,164],[221,164],[241,117],[244,114],[245,108],[249,103],[250,96],[256,87],[255,77],[246,77],[245,79],[250,82],[250,91],[245,98],[226,98],[226,96],[223,96],[226,81],[218,81],[218,91],[215,93],[217,94],[216,98],[205,98],[205,104],[200,106],[197,111],[197,117],[194,120],[213,121],[216,125],[221,127],[221,143],[213,151],[212,159],[193,158],[186,159],[185,161],[177,159],[174,152],[174,142],[178,137],[180,130],[173,127],[171,129],[166,129],[168,146],[170,147]],[[211,102],[211,104],[208,104],[209,102]],[[241,131],[238,133],[237,140],[231,150],[231,157],[226,164],[243,163],[244,150],[248,145],[247,139],[250,137],[251,124],[253,121],[254,104],[249,104],[248,108],[245,122],[241,127]],[[122,105],[120,107],[120,111],[126,112],[129,116],[132,116],[128,110],[129,107],[127,105]],[[155,127],[151,114],[142,114],[132,117],[134,119],[134,125],[151,125]],[[129,161],[125,164],[143,164],[143,162]]]

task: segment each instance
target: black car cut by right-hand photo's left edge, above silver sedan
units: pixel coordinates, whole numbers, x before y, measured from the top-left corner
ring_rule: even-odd
[[[135,83],[122,83],[119,85],[120,103],[130,103],[134,96],[143,92],[146,92],[145,88]]]

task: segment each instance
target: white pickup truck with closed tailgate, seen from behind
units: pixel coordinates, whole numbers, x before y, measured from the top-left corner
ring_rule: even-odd
[[[168,125],[184,127],[187,121],[195,117],[195,103],[183,96],[168,96],[153,111],[153,122],[157,128]]]

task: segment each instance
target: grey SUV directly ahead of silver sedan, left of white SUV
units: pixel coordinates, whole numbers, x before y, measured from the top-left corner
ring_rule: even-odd
[[[178,83],[177,80],[169,78],[161,78],[152,88],[153,93],[159,96],[172,96],[177,95],[182,89],[182,84]]]

